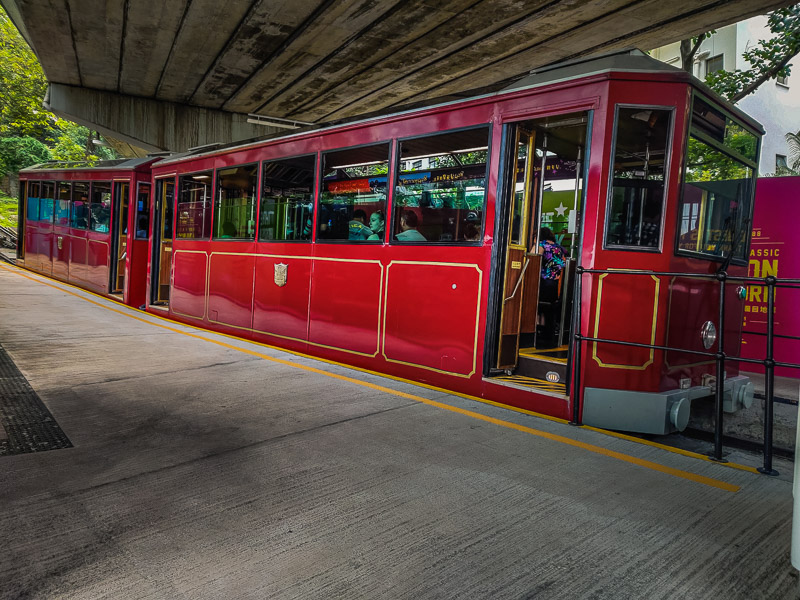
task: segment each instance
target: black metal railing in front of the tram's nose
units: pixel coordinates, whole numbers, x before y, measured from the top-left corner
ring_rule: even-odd
[[[572,423],[574,425],[581,424],[581,399],[582,388],[580,385],[581,380],[581,355],[584,343],[602,343],[602,344],[616,344],[620,346],[632,346],[636,348],[648,348],[652,350],[664,350],[682,352],[687,354],[694,354],[698,356],[705,356],[714,359],[716,363],[716,385],[714,392],[714,451],[711,458],[717,461],[724,461],[722,457],[723,445],[723,404],[724,404],[724,382],[725,382],[725,363],[750,363],[758,364],[764,367],[764,464],[758,470],[767,475],[777,475],[777,472],[772,468],[772,455],[773,455],[773,417],[774,417],[774,396],[775,396],[775,368],[785,367],[792,369],[800,369],[800,364],[781,362],[775,360],[774,345],[776,338],[800,340],[798,336],[777,334],[775,333],[775,289],[776,288],[794,288],[800,289],[800,279],[778,279],[777,277],[738,277],[730,276],[726,271],[720,271],[712,274],[703,273],[673,273],[665,271],[645,271],[645,270],[611,270],[611,269],[585,269],[578,267],[576,269],[577,277],[575,278],[575,298],[574,303],[574,328],[572,335],[572,356],[573,370],[572,370]],[[585,275],[595,274],[613,274],[613,275],[647,275],[656,277],[680,277],[690,279],[705,279],[708,281],[719,282],[719,329],[718,337],[716,340],[717,352],[704,352],[701,350],[693,350],[689,348],[679,348],[674,346],[662,346],[658,344],[642,344],[638,342],[626,342],[623,340],[597,338],[584,336],[582,334],[582,314],[581,314],[581,299],[583,278]],[[762,285],[767,288],[767,328],[766,332],[743,332],[746,335],[761,335],[766,339],[766,351],[763,359],[744,358],[740,356],[728,356],[725,349],[725,288],[731,283],[738,283],[742,285]],[[800,372],[798,373],[800,374]]]

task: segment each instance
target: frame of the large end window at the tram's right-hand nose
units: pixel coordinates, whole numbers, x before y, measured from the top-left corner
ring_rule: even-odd
[[[731,119],[734,123],[739,125],[745,131],[751,133],[756,138],[756,157],[755,160],[751,160],[744,155],[736,152],[735,150],[725,146],[724,144],[720,144],[716,140],[714,140],[711,136],[706,134],[705,132],[695,129],[693,127],[693,116],[694,116],[694,106],[695,106],[695,99],[699,98],[706,104],[709,104],[714,109],[720,111],[726,118]],[[689,141],[692,136],[696,137],[698,140],[707,144],[712,149],[725,154],[729,158],[733,158],[734,160],[741,161],[745,166],[750,168],[751,175],[751,186],[753,190],[753,195],[750,198],[750,211],[749,215],[747,215],[748,220],[748,230],[749,233],[745,236],[745,246],[744,246],[744,258],[738,258],[733,256],[730,258],[730,264],[737,265],[737,266],[747,266],[748,259],[750,256],[750,243],[753,228],[753,215],[755,213],[755,190],[756,190],[756,181],[758,179],[758,162],[761,158],[761,146],[763,144],[763,135],[756,131],[752,126],[745,123],[742,119],[736,117],[726,106],[724,106],[721,102],[715,102],[706,94],[698,92],[697,90],[692,90],[691,98],[689,101],[689,111],[688,111],[688,118],[686,120],[686,129],[685,129],[685,141],[683,145],[683,156],[681,158],[681,173],[680,173],[680,180],[679,180],[679,188],[678,188],[678,203],[676,205],[675,211],[675,219],[676,219],[676,227],[675,227],[675,240],[674,240],[674,253],[675,256],[685,256],[689,258],[695,258],[698,260],[707,260],[711,262],[726,262],[728,261],[727,256],[716,256],[713,254],[705,254],[702,252],[692,252],[690,250],[683,250],[680,248],[680,238],[681,238],[681,228],[680,228],[680,219],[683,218],[682,215],[682,207],[684,205],[683,202],[683,195],[685,189],[685,179],[686,179],[686,161],[689,158]]]

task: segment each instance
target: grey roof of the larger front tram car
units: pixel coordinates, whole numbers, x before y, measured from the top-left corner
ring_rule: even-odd
[[[553,63],[552,65],[535,69],[534,71],[531,71],[529,75],[521,79],[518,79],[514,83],[499,90],[495,89],[487,92],[484,88],[483,90],[477,90],[477,91],[474,90],[473,92],[465,92],[458,98],[447,97],[447,98],[442,98],[439,101],[434,101],[432,103],[428,101],[422,104],[411,104],[403,108],[400,108],[399,110],[394,109],[391,111],[381,111],[381,112],[361,115],[358,117],[343,119],[341,121],[310,125],[308,127],[300,128],[291,133],[274,133],[249,140],[239,140],[237,142],[233,142],[230,144],[207,144],[205,146],[200,146],[198,148],[190,148],[187,152],[181,152],[178,154],[172,154],[170,156],[163,157],[159,161],[159,164],[169,164],[190,157],[200,158],[208,155],[217,154],[220,152],[227,152],[233,149],[236,150],[245,149],[272,140],[291,139],[293,137],[307,135],[308,133],[312,132],[326,131],[329,129],[335,129],[346,125],[353,125],[356,123],[366,124],[369,123],[370,121],[379,120],[385,117],[410,114],[424,109],[443,107],[452,104],[459,104],[461,102],[469,102],[470,100],[478,100],[481,98],[502,96],[508,93],[522,91],[526,89],[533,89],[544,85],[552,85],[554,83],[559,83],[562,81],[571,81],[584,77],[591,77],[592,75],[600,75],[603,73],[612,73],[612,72],[633,73],[633,74],[663,73],[670,75],[672,77],[677,76],[681,79],[684,79],[686,83],[689,83],[694,87],[698,88],[706,96],[709,96],[711,99],[713,99],[714,102],[721,104],[725,108],[725,110],[735,115],[736,118],[747,123],[750,127],[753,127],[755,130],[759,131],[762,135],[764,134],[764,128],[758,121],[756,121],[750,115],[736,108],[736,106],[734,106],[733,104],[722,98],[717,92],[712,90],[710,87],[708,87],[705,83],[703,83],[700,79],[698,79],[691,73],[687,73],[683,69],[679,69],[677,67],[664,63],[660,60],[657,60],[637,48],[628,48],[624,50],[618,50],[615,52],[595,54],[592,56],[588,56],[586,58]]]

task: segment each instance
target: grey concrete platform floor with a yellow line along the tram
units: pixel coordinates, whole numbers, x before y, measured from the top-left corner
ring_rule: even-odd
[[[783,479],[4,264],[0,344],[74,444],[0,457],[2,598],[798,597]]]

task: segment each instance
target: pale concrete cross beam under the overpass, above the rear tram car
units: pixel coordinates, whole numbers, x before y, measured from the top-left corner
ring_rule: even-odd
[[[148,151],[184,152],[285,131],[253,125],[247,115],[51,83],[45,108],[105,136]]]

